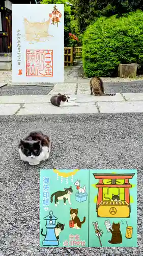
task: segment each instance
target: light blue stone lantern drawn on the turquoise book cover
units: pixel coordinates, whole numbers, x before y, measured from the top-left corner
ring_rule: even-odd
[[[44,218],[44,220],[46,220],[46,234],[43,234],[43,229],[41,229],[41,234],[42,236],[45,237],[44,241],[43,241],[43,245],[46,246],[58,246],[59,245],[59,241],[56,239],[55,236],[55,222],[57,220],[56,217],[53,216],[52,214],[52,210],[50,210],[49,215],[47,217]]]

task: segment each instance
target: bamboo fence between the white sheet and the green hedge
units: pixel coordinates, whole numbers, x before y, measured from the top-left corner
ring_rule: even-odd
[[[72,66],[74,59],[81,58],[82,47],[65,47],[64,63],[65,67]]]

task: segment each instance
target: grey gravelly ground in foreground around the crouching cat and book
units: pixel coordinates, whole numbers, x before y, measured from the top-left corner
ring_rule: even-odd
[[[142,256],[143,114],[0,117],[1,256]],[[30,130],[52,139],[49,160],[38,167],[19,159],[17,144]],[[39,168],[137,168],[137,248],[40,248]]]

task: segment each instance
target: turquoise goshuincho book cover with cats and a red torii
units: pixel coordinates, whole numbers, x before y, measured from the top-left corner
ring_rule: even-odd
[[[40,246],[136,247],[137,170],[40,170]]]

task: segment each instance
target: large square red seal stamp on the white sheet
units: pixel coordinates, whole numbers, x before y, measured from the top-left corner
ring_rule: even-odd
[[[26,76],[53,76],[53,50],[26,50]]]

